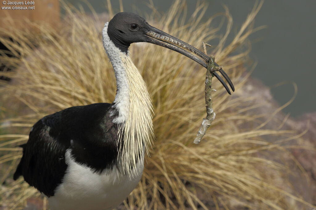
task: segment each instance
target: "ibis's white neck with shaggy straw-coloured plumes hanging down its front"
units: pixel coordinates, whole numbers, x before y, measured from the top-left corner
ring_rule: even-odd
[[[153,108],[142,76],[129,54],[121,52],[110,40],[107,25],[103,29],[103,45],[114,68],[118,89],[112,106],[119,113],[113,122],[121,125],[118,148],[123,143],[119,151],[119,166],[124,173],[130,174],[130,169],[135,168],[138,161],[143,161],[144,152],[151,147]]]

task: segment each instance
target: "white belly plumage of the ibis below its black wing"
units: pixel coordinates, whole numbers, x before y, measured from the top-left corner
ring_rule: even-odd
[[[49,198],[52,210],[110,210],[117,207],[137,186],[144,167],[144,159],[129,177],[114,168],[98,175],[90,168],[77,164],[70,157],[70,149],[65,154],[67,171],[55,195]]]

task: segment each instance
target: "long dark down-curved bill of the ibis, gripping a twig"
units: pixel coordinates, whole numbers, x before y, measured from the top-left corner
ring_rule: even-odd
[[[170,50],[174,50],[176,52],[181,53],[182,55],[185,55],[189,58],[191,58],[193,61],[196,61],[197,63],[201,64],[203,67],[207,67],[207,62],[210,60],[210,57],[205,55],[203,52],[198,50],[197,48],[191,46],[190,44],[185,43],[184,41],[181,41],[178,38],[175,38],[155,27],[151,26],[151,30],[149,30],[146,33],[147,37],[149,38],[147,42],[152,43],[152,44],[157,44],[163,47],[166,47]],[[198,55],[200,58],[197,56],[193,55]],[[219,66],[217,63],[215,63],[216,66]],[[219,72],[222,74],[222,76],[226,79],[228,85],[230,88],[235,91],[234,85],[232,81],[229,79],[228,75],[224,72],[224,70],[221,68]],[[231,92],[226,85],[225,81],[216,73],[213,72],[214,76],[222,83],[222,85],[225,87],[227,92],[231,95]]]

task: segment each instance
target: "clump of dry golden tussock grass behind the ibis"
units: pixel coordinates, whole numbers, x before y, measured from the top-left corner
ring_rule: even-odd
[[[146,19],[201,48],[203,41],[216,43],[222,25],[213,27],[214,19],[225,17],[226,33],[211,54],[225,67],[238,91],[248,75],[245,73],[250,50],[247,38],[259,29],[253,28],[252,23],[261,3],[254,5],[228,44],[225,41],[232,28],[228,9],[201,22],[207,11],[205,6],[197,4],[189,22],[185,22],[182,1],[176,1],[165,15],[155,12]],[[0,179],[1,183],[5,181],[0,194],[2,209],[23,209],[27,198],[40,196],[22,178],[11,179],[21,157],[21,149],[16,145],[27,141],[33,123],[70,106],[112,102],[115,96],[115,77],[101,44],[102,26],[98,24],[104,20],[70,7],[66,10],[65,23],[58,29],[27,23],[33,24],[40,34],[11,29],[6,33],[14,41],[1,38],[15,55],[2,58],[15,68],[3,73],[13,78],[13,82],[1,87],[1,100],[5,104],[5,116],[1,120],[5,134],[0,135]],[[289,170],[282,161],[287,151],[281,143],[299,137],[294,136],[294,131],[243,127],[264,123],[264,114],[247,114],[261,105],[251,105],[253,98],[242,94],[229,96],[215,81],[216,120],[202,143],[194,145],[193,139],[205,116],[205,69],[183,55],[152,44],[133,44],[130,50],[153,101],[156,139],[150,157],[146,158],[141,182],[124,202],[127,209],[311,207],[292,194],[291,185],[283,179]],[[269,143],[264,140],[266,136],[277,137],[279,141]],[[277,155],[274,160],[278,161],[264,158],[264,154],[270,153]]]

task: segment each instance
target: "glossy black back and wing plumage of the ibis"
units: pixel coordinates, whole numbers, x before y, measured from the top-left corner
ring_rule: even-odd
[[[23,156],[14,179],[22,175],[28,184],[53,196],[67,169],[67,149],[71,149],[76,162],[91,167],[94,172],[114,167],[118,125],[112,123],[115,114],[110,116],[109,110],[112,110],[110,104],[96,103],[43,117],[22,146]]]

